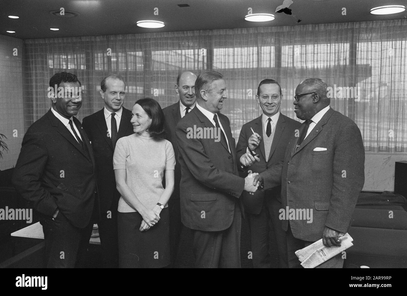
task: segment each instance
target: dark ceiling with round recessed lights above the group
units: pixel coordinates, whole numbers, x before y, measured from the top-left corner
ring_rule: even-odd
[[[407,18],[407,11],[393,15],[372,15],[370,9],[406,0],[293,0],[292,15],[275,13],[283,0],[2,0],[0,34],[20,39],[115,35],[150,32],[249,28],[257,26],[298,26],[335,22],[359,22]],[[177,4],[189,4],[179,7]],[[76,17],[57,17],[50,11],[74,11]],[[273,13],[271,22],[244,20],[252,13]],[[158,8],[158,15],[154,9]],[[346,8],[346,15],[342,14]],[[11,19],[8,15],[17,15]],[[138,20],[160,20],[164,28],[136,26]],[[297,22],[297,20],[302,20]],[[59,28],[51,31],[50,28]],[[7,33],[13,30],[16,33]]]

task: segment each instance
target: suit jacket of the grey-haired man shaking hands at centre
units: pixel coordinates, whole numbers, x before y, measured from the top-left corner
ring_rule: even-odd
[[[181,166],[181,221],[201,231],[228,229],[234,217],[235,202],[245,181],[238,176],[235,140],[229,118],[218,113],[229,141],[228,147],[214,139],[187,137],[187,128],[214,128],[212,122],[197,107],[184,116],[176,128]]]

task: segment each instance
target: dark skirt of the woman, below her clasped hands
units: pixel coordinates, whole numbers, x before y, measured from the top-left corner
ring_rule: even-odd
[[[120,268],[161,268],[170,264],[168,208],[162,209],[160,221],[141,232],[143,218],[138,212],[117,215]]]

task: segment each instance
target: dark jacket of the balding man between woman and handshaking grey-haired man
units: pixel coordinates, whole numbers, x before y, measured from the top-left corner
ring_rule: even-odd
[[[171,106],[165,107],[162,109],[165,116],[165,134],[164,138],[173,144],[175,159],[178,159],[178,146],[177,146],[177,137],[175,135],[175,127],[179,120],[181,120],[181,113],[179,111],[179,101]],[[174,198],[179,199],[179,182],[181,181],[181,167],[179,162],[175,162],[175,172],[174,172],[174,192],[171,195],[171,200]],[[164,186],[165,186],[165,181]]]

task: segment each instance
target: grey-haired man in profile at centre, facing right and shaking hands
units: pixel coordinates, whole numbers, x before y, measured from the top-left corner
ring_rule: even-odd
[[[192,230],[195,267],[240,268],[243,190],[255,192],[253,178],[238,176],[235,141],[229,119],[219,113],[228,98],[223,76],[200,74],[197,104],[175,134],[181,166],[181,221]]]

